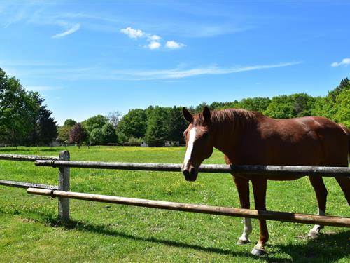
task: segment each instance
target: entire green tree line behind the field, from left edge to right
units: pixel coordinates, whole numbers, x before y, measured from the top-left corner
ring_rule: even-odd
[[[166,141],[184,143],[183,130],[188,126],[182,108],[176,106],[131,109],[124,116],[111,112],[80,123],[67,119],[63,126],[57,126],[52,112],[43,102],[38,93],[25,90],[18,79],[0,69],[0,144],[46,145],[57,138],[62,143],[79,145],[146,142],[151,147],[159,147]],[[188,109],[195,114],[202,112],[204,106],[248,109],[276,119],[325,116],[350,127],[350,81],[342,79],[339,86],[324,97],[296,93],[271,99],[253,97],[233,102],[203,102]]]

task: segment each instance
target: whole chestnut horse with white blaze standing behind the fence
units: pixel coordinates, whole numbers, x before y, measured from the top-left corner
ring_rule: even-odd
[[[183,108],[183,116],[190,123],[185,130],[186,156],[182,172],[186,180],[197,179],[198,167],[211,156],[213,148],[225,154],[230,165],[286,165],[286,166],[348,166],[350,131],[329,119],[308,116],[295,119],[271,119],[258,112],[243,109],[210,111],[192,115]],[[232,174],[233,175],[233,174]],[[300,175],[233,175],[241,208],[250,208],[249,186],[253,184],[255,209],[266,210],[267,180],[295,180]],[[316,193],[318,215],[325,215],[327,189],[321,176],[309,177]],[[350,205],[350,180],[336,177]],[[251,251],[253,255],[266,253],[269,239],[265,220],[260,222],[260,238]],[[315,225],[309,236],[317,236],[323,226]],[[248,243],[251,220],[244,218],[244,231],[237,244]]]

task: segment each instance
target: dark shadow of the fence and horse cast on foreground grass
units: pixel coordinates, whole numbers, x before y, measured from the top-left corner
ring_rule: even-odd
[[[57,221],[53,221],[57,225]],[[53,223],[52,222],[52,223]],[[149,243],[158,243],[162,245],[169,245],[177,248],[190,248],[200,250],[203,252],[211,252],[220,255],[229,255],[232,257],[246,257],[251,259],[261,259],[262,262],[268,263],[289,263],[289,262],[335,262],[339,259],[350,256],[350,231],[342,231],[339,233],[321,234],[318,238],[308,239],[307,243],[300,241],[300,244],[292,245],[268,245],[267,250],[272,250],[268,255],[263,257],[255,257],[249,252],[235,251],[235,249],[221,249],[210,248],[202,245],[193,245],[179,241],[170,241],[163,238],[146,238],[141,236],[134,236],[132,234],[125,234],[123,231],[116,231],[108,226],[99,226],[94,224],[86,224],[85,222],[72,221],[68,229],[78,229],[81,231],[91,231],[98,234],[105,234],[108,236],[119,236],[122,238],[132,239],[134,241],[143,241]],[[253,248],[253,243],[250,244]],[[276,252],[273,252],[276,251]],[[279,254],[274,257],[274,254]],[[288,258],[281,258],[281,254],[289,255]],[[290,259],[290,257],[292,259]]]

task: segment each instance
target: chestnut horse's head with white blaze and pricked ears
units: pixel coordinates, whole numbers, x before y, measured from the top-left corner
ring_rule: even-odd
[[[211,156],[214,149],[213,137],[210,135],[211,113],[208,107],[200,114],[193,116],[188,109],[183,108],[183,116],[190,123],[183,135],[186,139],[186,155],[183,161],[182,173],[186,181],[195,181],[198,167]]]

